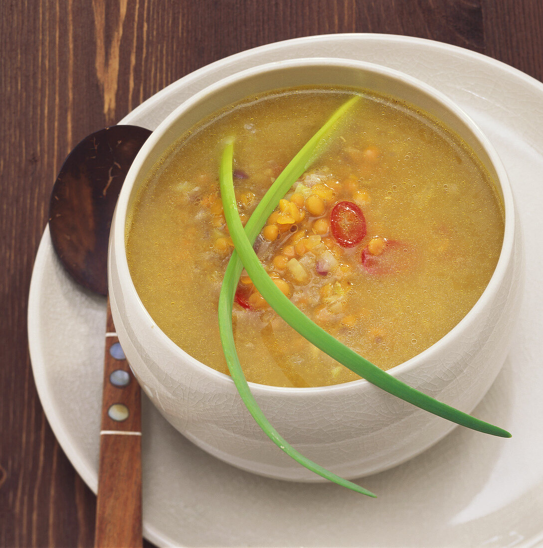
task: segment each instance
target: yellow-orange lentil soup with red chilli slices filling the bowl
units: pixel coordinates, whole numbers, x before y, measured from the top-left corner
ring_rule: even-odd
[[[278,287],[382,369],[425,350],[483,293],[504,232],[493,181],[454,134],[401,101],[346,89],[278,90],[183,135],[139,190],[127,222],[133,282],[159,327],[228,373],[217,305],[233,250],[219,195],[224,140],[245,223],[282,168],[353,93],[363,99],[296,182],[255,248]],[[248,381],[358,379],[271,310],[242,275],[233,312]]]

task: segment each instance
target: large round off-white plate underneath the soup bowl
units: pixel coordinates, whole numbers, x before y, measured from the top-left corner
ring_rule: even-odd
[[[365,498],[331,484],[275,481],[202,452],[144,402],[144,534],[161,546],[543,545],[543,84],[483,55],[391,35],[329,35],[217,61],[145,101],[121,123],[155,128],[217,79],[314,56],[409,73],[465,109],[493,142],[522,219],[527,283],[516,342],[475,414],[513,433],[457,428],[393,470],[364,478]],[[105,302],[76,287],[44,232],[32,275],[29,341],[39,397],[59,443],[97,488]],[[278,450],[270,442],[270,451]]]

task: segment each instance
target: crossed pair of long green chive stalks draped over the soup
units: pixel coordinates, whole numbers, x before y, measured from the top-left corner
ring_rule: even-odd
[[[247,381],[242,373],[239,359],[237,358],[234,338],[231,333],[231,312],[234,294],[242,268],[245,266],[245,269],[254,283],[254,286],[259,290],[268,304],[283,319],[285,319],[291,327],[293,327],[299,334],[304,336],[304,338],[309,340],[312,344],[317,346],[320,350],[324,351],[329,356],[336,359],[336,361],[342,363],[344,366],[348,367],[361,377],[365,378],[370,383],[380,387],[382,390],[389,392],[394,396],[404,399],[406,402],[414,404],[416,407],[425,409],[430,413],[441,416],[442,418],[448,419],[456,424],[467,426],[473,430],[489,433],[494,436],[511,437],[511,434],[506,430],[476,419],[467,413],[463,413],[460,410],[446,405],[445,403],[439,402],[436,399],[406,385],[405,383],[402,383],[392,375],[389,375],[382,369],[367,361],[367,359],[358,355],[356,352],[350,350],[337,339],[333,338],[333,336],[325,332],[324,329],[321,329],[306,315],[304,315],[303,312],[298,310],[297,307],[281,293],[273,281],[271,281],[268,273],[264,270],[256,253],[254,253],[252,243],[262,230],[262,227],[267,221],[269,215],[278,205],[279,200],[291,188],[298,177],[302,175],[302,173],[309,167],[316,156],[318,156],[320,150],[326,145],[326,138],[329,137],[333,128],[336,127],[337,122],[359,99],[359,96],[355,96],[353,99],[347,101],[346,104],[342,105],[340,109],[332,115],[329,121],[326,122],[326,124],[312,137],[312,139],[307,142],[302,150],[298,152],[289,165],[287,165],[287,167],[275,180],[274,184],[265,194],[262,201],[258,204],[257,208],[254,210],[254,213],[251,215],[250,220],[247,222],[245,229],[241,224],[241,220],[237,212],[237,204],[232,180],[232,162],[234,151],[233,142],[227,144],[224,149],[220,164],[220,189],[222,193],[224,214],[227,220],[230,236],[234,241],[235,251],[231,256],[227,271],[225,272],[223,286],[220,293],[219,331],[224,355],[227,359],[230,374],[234,380],[234,383],[240,392],[240,396],[244,399],[247,408],[257,420],[257,423],[262,427],[264,432],[276,444],[279,445],[279,447],[285,450],[283,447],[285,446],[284,440],[282,440],[278,433],[273,429],[273,426],[271,426],[271,424],[267,421],[262,413],[262,410],[258,408],[256,401],[252,398]],[[259,417],[258,419],[257,416]],[[296,453],[296,456],[286,450],[285,452],[290,454],[290,456],[295,458],[295,460],[299,463],[308,467],[310,470],[316,471],[314,468],[307,466],[305,462],[307,459],[297,453],[290,446],[288,447],[292,450],[292,452]],[[309,461],[309,463],[312,466],[316,466],[314,463],[311,463],[311,461]],[[316,473],[331,479],[329,477],[329,475],[331,475],[330,472],[321,469],[321,467],[318,468],[320,471],[316,471]],[[323,471],[326,472],[326,475],[322,473]],[[341,479],[342,482],[346,482],[346,480],[342,478],[339,479]],[[336,479],[332,479],[332,481],[340,483]],[[350,486],[346,487],[353,488]]]

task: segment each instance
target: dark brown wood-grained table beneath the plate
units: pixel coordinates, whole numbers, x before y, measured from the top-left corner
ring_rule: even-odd
[[[203,65],[269,42],[383,32],[543,79],[541,0],[0,1],[0,546],[92,546],[95,497],[43,413],[27,350],[32,264],[70,149]]]

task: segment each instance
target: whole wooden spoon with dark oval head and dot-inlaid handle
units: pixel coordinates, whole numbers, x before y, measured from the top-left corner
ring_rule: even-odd
[[[108,294],[108,242],[121,186],[148,129],[114,125],[66,158],[49,205],[56,254],[76,282]],[[94,545],[142,546],[141,396],[118,343],[108,299]]]

